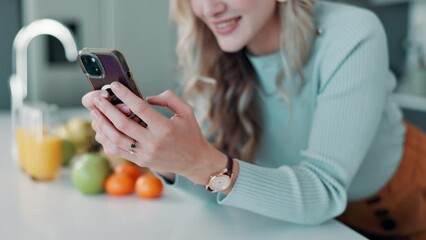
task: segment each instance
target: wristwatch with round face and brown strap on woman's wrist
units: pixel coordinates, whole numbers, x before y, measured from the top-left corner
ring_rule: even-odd
[[[232,180],[232,167],[234,164],[234,160],[230,157],[228,157],[228,163],[226,164],[226,168],[222,171],[213,173],[209,177],[209,181],[206,185],[206,189],[210,192],[220,192],[223,191],[229,186],[231,186],[231,180]]]

